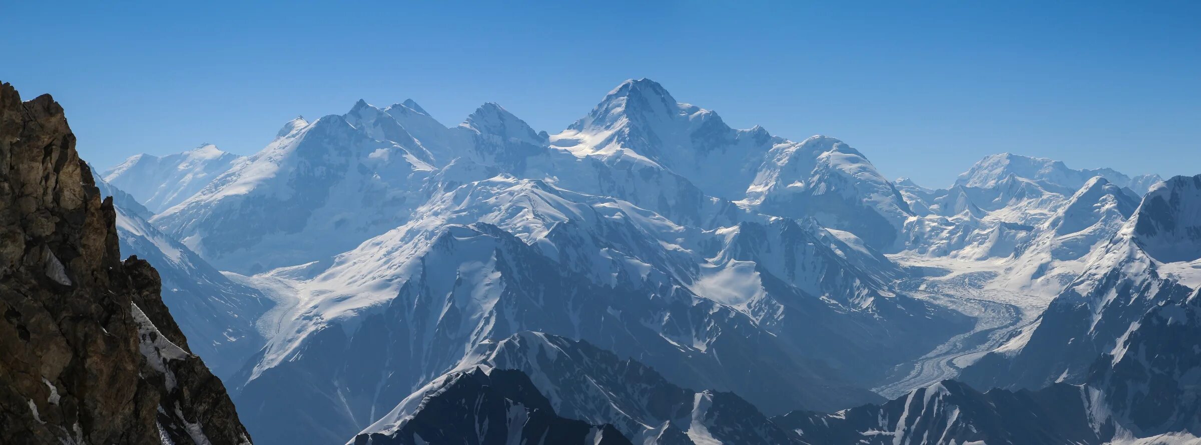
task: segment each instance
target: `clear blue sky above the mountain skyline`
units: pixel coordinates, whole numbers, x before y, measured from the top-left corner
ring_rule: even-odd
[[[829,134],[946,186],[1010,151],[1201,173],[1197,2],[4,1],[0,80],[50,92],[100,167],[259,150],[298,114],[497,102],[557,132],[627,78],[735,127]]]

